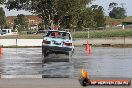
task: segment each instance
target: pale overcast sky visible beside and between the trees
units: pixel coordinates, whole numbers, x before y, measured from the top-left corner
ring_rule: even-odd
[[[119,4],[119,6],[121,3],[124,3],[125,4],[124,6],[127,11],[127,16],[132,16],[132,0],[95,0],[95,1],[93,1],[92,4],[103,6],[104,10],[105,10],[105,15],[108,15],[108,6],[109,6],[110,2],[116,2]],[[4,8],[4,10],[5,10],[6,16],[16,16],[18,14],[25,14],[25,15],[31,14],[26,11],[15,11],[15,10],[8,11],[5,8]]]

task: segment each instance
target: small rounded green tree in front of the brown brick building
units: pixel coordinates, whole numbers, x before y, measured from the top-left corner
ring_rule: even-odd
[[[19,14],[17,18],[14,20],[14,27],[17,29],[19,33],[28,28],[28,20],[25,15]]]

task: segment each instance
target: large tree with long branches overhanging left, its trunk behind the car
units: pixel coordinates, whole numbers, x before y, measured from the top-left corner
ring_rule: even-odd
[[[43,19],[45,25],[51,22],[56,14],[55,2],[57,0],[8,0],[6,8],[9,10],[28,10]]]

